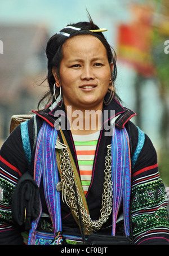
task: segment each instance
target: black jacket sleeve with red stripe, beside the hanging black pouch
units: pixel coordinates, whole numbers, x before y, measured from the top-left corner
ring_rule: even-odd
[[[32,120],[29,121],[29,128]],[[29,133],[32,134],[31,128]],[[20,177],[28,170],[20,125],[10,134],[0,151],[0,244],[23,244],[21,230],[11,211],[12,195]]]

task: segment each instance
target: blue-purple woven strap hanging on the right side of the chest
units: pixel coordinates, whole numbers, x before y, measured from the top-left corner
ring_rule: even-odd
[[[113,228],[112,236],[115,236],[115,226],[119,206],[123,198],[124,230],[126,236],[130,235],[130,192],[131,192],[131,162],[129,137],[124,129],[115,128],[112,137],[112,179],[113,179]]]

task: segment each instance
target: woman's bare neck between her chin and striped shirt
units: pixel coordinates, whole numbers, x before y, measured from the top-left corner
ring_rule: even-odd
[[[72,106],[67,106],[66,114],[72,134],[85,135],[100,131],[102,106],[95,110],[77,110],[72,109]]]

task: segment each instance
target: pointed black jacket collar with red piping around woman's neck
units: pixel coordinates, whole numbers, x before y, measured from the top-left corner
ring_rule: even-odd
[[[108,97],[108,95],[106,95]],[[60,118],[66,119],[66,111],[64,104],[59,107],[54,102],[46,109],[33,111],[48,124],[54,127],[60,122]],[[106,122],[115,122],[115,126],[118,128],[124,128],[124,125],[135,116],[135,112],[123,107],[115,98],[112,99],[109,105],[103,104],[103,125]]]

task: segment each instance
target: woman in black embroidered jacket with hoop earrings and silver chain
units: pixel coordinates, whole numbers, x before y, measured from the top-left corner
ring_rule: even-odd
[[[22,244],[23,229],[28,244],[112,244],[117,235],[168,244],[157,155],[115,93],[115,53],[103,31],[90,20],[48,41],[52,103],[1,149],[1,244]]]

